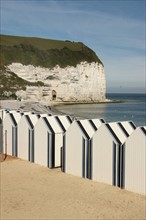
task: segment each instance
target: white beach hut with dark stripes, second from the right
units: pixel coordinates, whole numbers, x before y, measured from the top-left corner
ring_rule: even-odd
[[[136,129],[131,121],[105,123],[92,138],[92,179],[120,186],[121,146]]]

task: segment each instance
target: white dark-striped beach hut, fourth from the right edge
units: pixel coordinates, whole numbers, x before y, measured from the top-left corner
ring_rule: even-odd
[[[59,167],[62,145],[63,131],[55,117],[40,117],[35,126],[35,163],[49,168]]]

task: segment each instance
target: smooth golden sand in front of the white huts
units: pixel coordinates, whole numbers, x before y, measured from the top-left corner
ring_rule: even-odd
[[[146,219],[146,197],[7,157],[1,168],[1,219]]]

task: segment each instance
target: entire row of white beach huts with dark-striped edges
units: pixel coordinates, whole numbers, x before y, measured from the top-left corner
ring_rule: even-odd
[[[0,152],[146,195],[146,127],[0,110]]]

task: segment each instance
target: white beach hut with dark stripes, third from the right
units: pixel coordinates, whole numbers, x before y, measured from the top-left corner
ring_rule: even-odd
[[[103,121],[96,119],[96,124],[98,127],[92,120],[77,120],[67,129],[63,140],[63,172],[83,178],[92,178],[91,137],[103,124]]]

